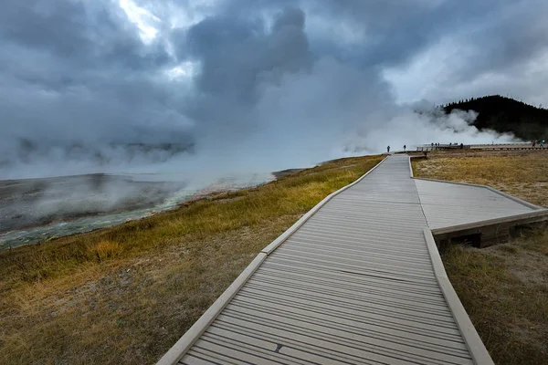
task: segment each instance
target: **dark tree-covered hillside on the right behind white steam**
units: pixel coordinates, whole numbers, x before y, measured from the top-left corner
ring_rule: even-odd
[[[444,110],[475,110],[479,113],[474,125],[479,129],[512,132],[524,141],[548,139],[548,110],[522,101],[490,95],[460,100],[445,105]]]

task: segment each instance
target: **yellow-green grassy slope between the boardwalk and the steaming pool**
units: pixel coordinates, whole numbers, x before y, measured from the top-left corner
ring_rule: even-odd
[[[0,363],[153,363],[263,247],[381,156],[0,253]]]

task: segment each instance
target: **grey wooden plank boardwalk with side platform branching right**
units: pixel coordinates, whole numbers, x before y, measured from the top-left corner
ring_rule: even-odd
[[[394,155],[330,195],[265,248],[159,363],[492,363],[428,228],[474,218],[453,200],[444,220],[440,183],[410,176],[408,156]],[[479,207],[481,217],[534,209],[474,193],[496,205]]]

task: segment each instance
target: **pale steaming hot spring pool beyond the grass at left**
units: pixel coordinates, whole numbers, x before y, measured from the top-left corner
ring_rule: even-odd
[[[121,224],[208,193],[274,179],[271,173],[240,174],[194,186],[175,176],[152,174],[0,181],[0,250]]]

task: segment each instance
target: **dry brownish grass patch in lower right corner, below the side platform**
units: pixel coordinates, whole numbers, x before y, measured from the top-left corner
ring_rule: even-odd
[[[495,363],[548,364],[548,232],[442,258]]]

